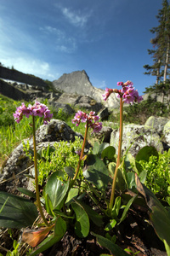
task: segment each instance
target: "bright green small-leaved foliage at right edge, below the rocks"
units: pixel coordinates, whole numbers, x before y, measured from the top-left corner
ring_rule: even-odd
[[[160,153],[159,160],[151,155],[149,161],[139,163],[147,173],[145,185],[170,205],[170,150]]]

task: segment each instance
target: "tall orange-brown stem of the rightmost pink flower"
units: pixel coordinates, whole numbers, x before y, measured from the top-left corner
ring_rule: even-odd
[[[121,153],[122,153],[122,124],[123,124],[123,102],[122,102],[122,95],[120,95],[120,130],[119,130],[119,146],[118,146],[118,154],[117,154],[117,161],[116,161],[116,169],[113,177],[113,183],[112,183],[112,188],[111,188],[111,199],[110,199],[110,204],[108,207],[108,212],[111,214],[111,210],[113,207],[113,202],[114,202],[114,196],[115,196],[115,189],[116,189],[116,177],[118,173],[118,167],[121,164]]]

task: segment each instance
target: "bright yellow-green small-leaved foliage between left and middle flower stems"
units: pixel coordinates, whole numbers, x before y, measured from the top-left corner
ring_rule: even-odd
[[[68,177],[65,172],[65,166],[71,166],[74,170],[77,166],[79,156],[75,151],[82,148],[80,138],[76,138],[75,142],[59,142],[54,144],[54,152],[48,155],[46,161],[43,159],[38,161],[39,183],[42,184],[49,174],[58,171],[58,176]]]

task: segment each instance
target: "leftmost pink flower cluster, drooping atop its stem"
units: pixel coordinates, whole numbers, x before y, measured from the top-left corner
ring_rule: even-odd
[[[20,123],[20,120],[23,119],[23,116],[26,115],[26,118],[29,118],[30,115],[43,117],[43,124],[47,125],[50,119],[53,117],[53,113],[50,113],[48,107],[38,101],[35,102],[33,106],[29,104],[26,107],[23,102],[20,107],[16,108],[15,113],[13,113],[14,119],[17,123]]]

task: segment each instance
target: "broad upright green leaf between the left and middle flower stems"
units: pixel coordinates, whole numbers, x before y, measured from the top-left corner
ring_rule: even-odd
[[[69,188],[69,181],[63,182],[59,180],[56,172],[54,172],[51,175],[51,177],[49,177],[48,182],[44,189],[44,194],[46,195],[48,194],[54,209],[57,209],[57,207],[61,209],[62,207],[61,202],[65,198],[68,188]]]

